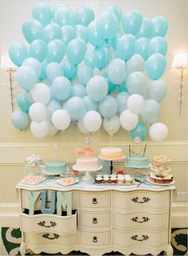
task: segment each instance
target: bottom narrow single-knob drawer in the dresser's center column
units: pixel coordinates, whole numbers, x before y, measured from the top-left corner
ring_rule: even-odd
[[[110,230],[100,232],[80,231],[80,244],[82,246],[108,246],[110,241]]]

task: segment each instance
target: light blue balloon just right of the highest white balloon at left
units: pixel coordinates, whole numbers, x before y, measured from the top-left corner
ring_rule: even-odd
[[[53,80],[53,93],[58,100],[67,100],[71,94],[71,82],[67,77],[56,77]]]

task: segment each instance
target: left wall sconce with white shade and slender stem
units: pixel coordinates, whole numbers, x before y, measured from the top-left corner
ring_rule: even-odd
[[[11,99],[11,108],[12,112],[14,112],[14,96],[13,96],[13,79],[12,79],[12,72],[16,71],[16,65],[13,64],[12,61],[10,61],[10,58],[8,56],[1,57],[1,70],[5,70],[9,73],[9,83],[10,83],[10,99]]]

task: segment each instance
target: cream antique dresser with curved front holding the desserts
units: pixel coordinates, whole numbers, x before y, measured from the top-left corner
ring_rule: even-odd
[[[55,179],[37,186],[17,186],[21,198],[22,244],[20,252],[68,254],[80,250],[90,255],[111,251],[122,254],[173,255],[170,216],[174,186],[104,186],[80,182],[62,187]],[[28,215],[27,191],[72,191],[72,215]],[[40,198],[34,211],[40,209]],[[49,200],[50,204],[50,200]]]

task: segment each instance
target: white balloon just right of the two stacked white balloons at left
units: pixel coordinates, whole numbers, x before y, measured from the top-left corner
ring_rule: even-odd
[[[52,122],[55,128],[63,131],[69,127],[71,119],[65,109],[57,109],[53,112]]]

